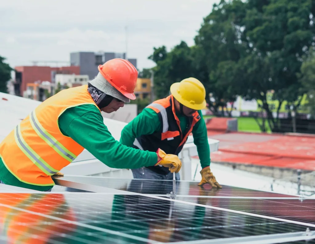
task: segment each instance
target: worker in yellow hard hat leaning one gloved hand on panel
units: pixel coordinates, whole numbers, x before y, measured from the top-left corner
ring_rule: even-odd
[[[199,185],[209,183],[221,188],[210,170],[207,128],[201,113],[206,107],[203,84],[191,77],[172,84],[170,92],[170,96],[148,105],[129,122],[121,132],[120,142],[144,151],[155,152],[161,148],[178,155],[192,132],[202,167]],[[138,167],[132,173],[137,179],[173,179],[172,174],[159,166]],[[175,179],[180,179],[179,174]]]

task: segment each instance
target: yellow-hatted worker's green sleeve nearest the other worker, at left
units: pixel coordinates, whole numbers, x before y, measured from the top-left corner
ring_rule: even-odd
[[[146,108],[123,128],[120,142],[123,145],[132,146],[135,139],[140,135],[153,134],[161,128],[157,113],[150,108]]]

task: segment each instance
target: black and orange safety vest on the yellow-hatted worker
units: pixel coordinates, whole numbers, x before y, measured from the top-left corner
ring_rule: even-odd
[[[198,111],[192,117],[187,117],[187,127],[182,131],[180,121],[176,116],[174,97],[172,95],[149,104],[147,108],[157,113],[162,128],[156,133],[139,136],[135,139],[133,147],[150,152],[156,152],[158,148],[161,148],[168,154],[178,155],[183,149],[194,125],[201,118]],[[169,173],[169,169],[165,167],[148,166],[147,168],[160,174]]]

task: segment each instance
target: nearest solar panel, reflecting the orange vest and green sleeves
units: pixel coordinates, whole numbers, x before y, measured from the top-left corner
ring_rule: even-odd
[[[253,235],[277,238],[288,232],[301,235],[306,230],[295,223],[143,195],[2,193],[0,199],[1,235],[14,243],[155,243]]]

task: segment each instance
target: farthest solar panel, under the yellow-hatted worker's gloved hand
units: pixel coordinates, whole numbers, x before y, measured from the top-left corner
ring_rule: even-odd
[[[54,181],[57,185],[65,185],[66,183],[68,183],[67,186],[74,188],[83,187],[83,185],[90,185],[93,186],[92,188],[95,189],[95,191],[99,190],[99,192],[109,191],[108,189],[102,190],[102,188],[100,187],[112,188],[133,193],[157,195],[165,195],[173,190],[172,181],[162,180],[139,180],[93,176],[63,176],[55,177]],[[84,188],[83,190],[87,190],[87,188]],[[215,189],[211,188],[209,184],[206,184],[203,187],[199,187],[198,182],[189,181],[176,182],[176,195],[256,198],[292,197],[285,194],[269,193],[231,186],[224,186],[222,189]]]

